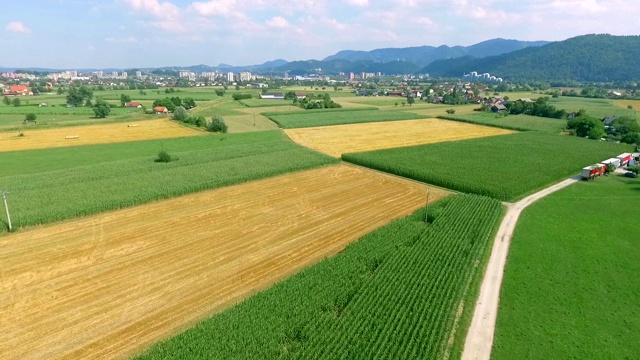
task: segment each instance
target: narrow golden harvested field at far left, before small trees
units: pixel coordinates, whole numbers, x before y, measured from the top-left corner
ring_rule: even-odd
[[[0,132],[0,152],[202,135],[200,131],[170,120],[27,129],[23,132],[24,136],[18,136],[17,132]]]

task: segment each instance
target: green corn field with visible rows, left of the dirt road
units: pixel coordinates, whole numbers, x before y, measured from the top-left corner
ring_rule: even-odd
[[[370,191],[369,191],[370,192]],[[140,359],[446,358],[501,213],[454,196],[162,342]]]

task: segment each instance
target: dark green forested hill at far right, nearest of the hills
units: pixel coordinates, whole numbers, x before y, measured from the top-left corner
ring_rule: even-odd
[[[640,80],[640,36],[584,35],[486,58],[435,61],[420,72],[461,77],[477,71],[507,80]]]

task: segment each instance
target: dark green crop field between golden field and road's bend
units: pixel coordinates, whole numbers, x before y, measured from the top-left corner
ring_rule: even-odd
[[[342,159],[462,192],[512,201],[630,145],[523,132],[479,139],[344,154]]]

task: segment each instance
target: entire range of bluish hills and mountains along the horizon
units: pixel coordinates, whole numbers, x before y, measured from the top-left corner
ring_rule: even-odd
[[[15,69],[1,68],[0,72]],[[53,69],[25,69],[60,71]],[[81,72],[96,69],[80,69]],[[103,69],[105,72],[115,71]],[[309,73],[429,74],[461,77],[465,73],[491,73],[506,80],[533,81],[640,81],[640,36],[592,34],[564,41],[518,41],[492,39],[471,46],[446,45],[383,48],[371,51],[344,50],[323,60],[287,62],[277,59],[263,64],[234,66],[193,65],[152,70],[193,72],[250,71],[256,74],[305,75]]]

